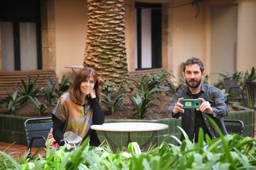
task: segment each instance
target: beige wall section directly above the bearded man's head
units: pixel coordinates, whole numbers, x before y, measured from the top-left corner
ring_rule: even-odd
[[[196,6],[184,6],[174,9],[172,13],[173,56],[169,55],[169,68],[177,78],[181,75],[181,64],[190,57],[202,59],[203,26],[202,12],[197,15]],[[203,59],[202,59],[203,60]]]

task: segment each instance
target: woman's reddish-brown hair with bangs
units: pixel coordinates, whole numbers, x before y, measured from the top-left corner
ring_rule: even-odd
[[[80,103],[83,104],[85,99],[82,99],[82,93],[80,91],[80,84],[84,79],[88,79],[90,75],[93,76],[93,79],[95,81],[94,89],[95,89],[95,94],[98,99],[101,99],[101,94],[100,94],[100,86],[99,86],[99,79],[98,79],[98,74],[96,73],[93,68],[88,68],[84,67],[79,70],[79,72],[75,75],[74,83],[72,88],[70,89],[72,98],[75,100],[75,103]]]

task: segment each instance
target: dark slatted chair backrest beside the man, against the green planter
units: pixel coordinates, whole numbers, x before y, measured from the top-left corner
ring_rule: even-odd
[[[242,135],[244,129],[244,123],[238,119],[225,119],[224,124],[228,131],[228,134],[239,134]]]

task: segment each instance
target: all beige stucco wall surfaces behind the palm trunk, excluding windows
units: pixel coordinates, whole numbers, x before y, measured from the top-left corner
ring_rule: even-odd
[[[142,2],[154,2],[148,0]],[[130,1],[129,1],[130,2]],[[130,4],[134,4],[131,1]],[[155,1],[156,2],[156,1]],[[210,71],[210,17],[209,6],[212,4],[238,3],[237,26],[237,71],[250,70],[256,67],[256,1],[211,1],[200,3],[200,13],[197,15],[197,6],[174,7],[184,4],[185,1],[163,0],[168,4],[166,19],[167,46],[164,65],[173,71],[176,78],[181,75],[181,64],[189,57],[199,57],[205,64],[206,73]],[[126,1],[128,4],[128,1]],[[63,74],[70,74],[66,65],[82,65],[87,26],[87,4],[84,0],[54,0],[56,14],[56,73],[61,78]],[[127,63],[130,71],[135,68],[134,62],[134,8],[126,8],[126,48]],[[165,66],[166,67],[166,66]]]

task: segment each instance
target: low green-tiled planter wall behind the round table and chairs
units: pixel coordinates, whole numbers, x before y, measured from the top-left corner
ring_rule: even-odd
[[[240,108],[239,111],[231,111],[229,116],[225,119],[240,119],[244,122],[243,136],[254,137],[254,114],[255,110],[241,107],[240,105],[234,104],[235,107]],[[27,145],[24,132],[24,121],[28,119],[22,116],[11,116],[11,115],[1,115],[0,114],[0,141],[9,142],[16,144]],[[153,120],[140,120],[140,119],[106,119],[105,123],[114,122],[153,122],[153,123],[164,123],[168,124],[169,128],[163,131],[158,131],[153,138],[153,144],[160,145],[165,137],[174,135],[176,137],[180,136],[181,131],[177,126],[181,126],[181,119],[176,118],[166,118],[166,119],[153,119]],[[143,144],[151,136],[151,132],[135,132],[130,134],[132,141],[137,141],[139,144]],[[105,140],[105,136],[102,132],[98,132],[101,142]],[[127,133],[117,133],[109,132],[108,136],[116,142],[117,145],[125,145],[127,142]],[[166,142],[176,144],[173,138],[166,139]]]

